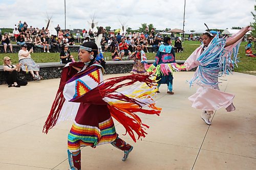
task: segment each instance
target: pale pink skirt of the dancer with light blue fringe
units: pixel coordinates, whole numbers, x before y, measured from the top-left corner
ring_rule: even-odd
[[[214,88],[199,87],[197,92],[191,95],[188,100],[192,107],[201,110],[217,110],[224,107],[228,112],[236,110],[233,105],[234,95],[222,92]]]

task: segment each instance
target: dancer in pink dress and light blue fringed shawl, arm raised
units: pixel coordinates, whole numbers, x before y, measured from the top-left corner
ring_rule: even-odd
[[[204,33],[203,44],[184,63],[187,70],[198,66],[190,86],[196,82],[200,87],[188,100],[193,103],[192,107],[203,110],[201,118],[207,125],[211,125],[209,119],[214,110],[224,107],[230,112],[236,109],[232,103],[234,95],[220,91],[218,77],[228,74],[236,64],[239,45],[249,30],[250,27],[243,28],[227,39],[219,38],[219,33],[215,37]]]

